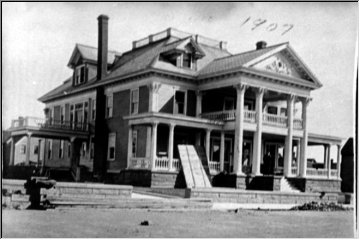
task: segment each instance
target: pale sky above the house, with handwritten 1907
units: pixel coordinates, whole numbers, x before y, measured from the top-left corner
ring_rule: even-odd
[[[109,49],[168,27],[227,41],[233,53],[289,42],[323,87],[311,93],[309,131],[354,136],[358,3],[2,3],[2,127],[44,117],[37,99],[60,85],[76,43],[97,46],[97,17],[109,16]]]

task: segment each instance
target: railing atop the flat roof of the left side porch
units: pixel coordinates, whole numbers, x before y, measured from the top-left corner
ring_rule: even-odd
[[[64,129],[76,131],[88,131],[89,124],[86,122],[70,122],[37,117],[25,117],[12,120],[11,128],[38,127],[44,129]]]

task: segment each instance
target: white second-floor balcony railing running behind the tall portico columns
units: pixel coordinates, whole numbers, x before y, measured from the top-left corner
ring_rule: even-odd
[[[256,123],[257,118],[256,111],[244,110],[244,121],[249,123]],[[218,111],[218,112],[209,112],[201,114],[202,118],[206,118],[214,121],[235,121],[236,119],[236,110],[227,110],[227,111]],[[288,118],[286,116],[279,116],[270,113],[263,113],[263,124],[287,128],[288,127]],[[303,129],[303,120],[295,118],[293,120],[294,129]]]

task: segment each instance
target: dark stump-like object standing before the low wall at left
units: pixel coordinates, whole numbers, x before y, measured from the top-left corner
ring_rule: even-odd
[[[43,209],[44,206],[40,205],[41,195],[40,189],[49,189],[55,186],[56,181],[47,179],[46,177],[31,177],[26,181],[24,187],[26,194],[30,195],[30,206],[29,209]]]

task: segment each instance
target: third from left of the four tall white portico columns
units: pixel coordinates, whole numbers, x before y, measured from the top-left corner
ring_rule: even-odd
[[[294,102],[295,96],[290,95],[287,99],[288,135],[285,138],[284,176],[291,175],[292,141],[294,131]]]

